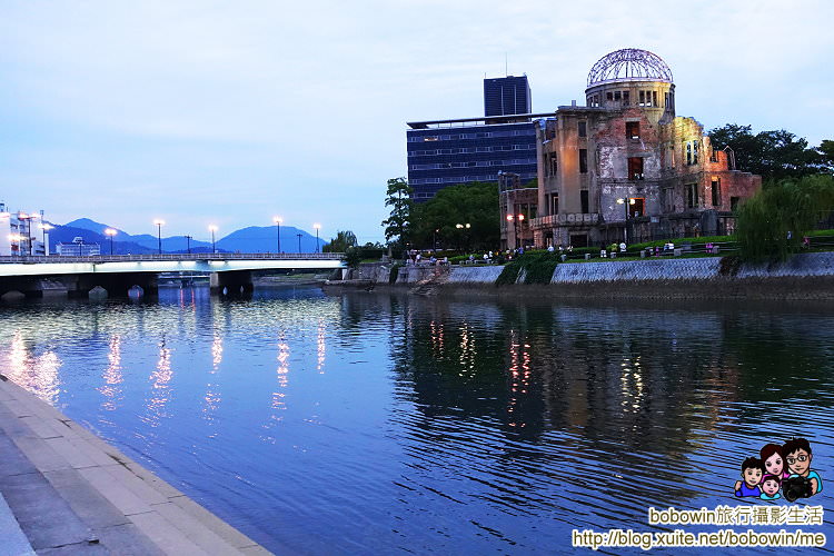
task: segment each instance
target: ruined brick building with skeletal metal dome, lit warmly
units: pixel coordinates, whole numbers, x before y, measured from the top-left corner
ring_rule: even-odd
[[[586,106],[559,107],[536,126],[538,205],[524,224],[536,246],[733,231],[733,209],[762,178],[735,170],[732,151],[713,149],[701,123],[675,116],[672,71],[659,57],[605,56],[585,97]]]

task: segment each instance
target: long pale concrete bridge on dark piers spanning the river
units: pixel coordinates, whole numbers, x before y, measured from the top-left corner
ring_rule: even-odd
[[[212,292],[252,290],[252,272],[345,268],[342,254],[193,254],[95,255],[90,257],[0,257],[0,296],[63,294],[87,296],[97,286],[111,296],[127,296],[133,286],[158,290],[160,272],[207,272]]]

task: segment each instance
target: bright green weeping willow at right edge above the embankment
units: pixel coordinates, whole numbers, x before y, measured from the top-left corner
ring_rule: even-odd
[[[834,210],[834,177],[806,176],[772,182],[737,212],[736,237],[743,260],[785,260],[805,234]]]

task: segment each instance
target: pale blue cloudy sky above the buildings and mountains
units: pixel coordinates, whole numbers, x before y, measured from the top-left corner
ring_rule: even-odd
[[[481,116],[505,53],[535,111],[582,102],[593,63],[635,47],[707,128],[833,137],[834,4],[636,6],[3,0],[0,200],[131,234],[163,218],[206,239],[280,215],[381,240],[405,122]]]

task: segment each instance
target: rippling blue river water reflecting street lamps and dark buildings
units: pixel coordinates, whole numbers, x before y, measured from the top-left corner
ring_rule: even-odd
[[[276,552],[661,530],[647,506],[735,505],[741,461],[792,435],[834,538],[831,306],[173,289],[0,317],[6,375]]]

